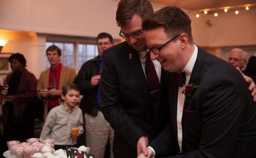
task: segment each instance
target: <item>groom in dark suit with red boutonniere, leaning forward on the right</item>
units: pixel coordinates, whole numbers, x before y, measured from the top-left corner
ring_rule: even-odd
[[[170,77],[172,118],[146,156],[256,157],[256,107],[247,84],[234,66],[193,44],[190,23],[169,6],[142,24],[151,59],[173,76],[186,73],[179,87]]]

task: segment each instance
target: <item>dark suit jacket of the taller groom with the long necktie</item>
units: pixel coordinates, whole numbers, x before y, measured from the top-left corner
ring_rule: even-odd
[[[147,80],[139,54],[126,41],[103,53],[101,74],[101,110],[115,130],[114,157],[137,157],[141,136],[152,140],[163,130],[169,119],[166,83],[169,73],[162,71],[161,107],[155,114],[150,101]]]

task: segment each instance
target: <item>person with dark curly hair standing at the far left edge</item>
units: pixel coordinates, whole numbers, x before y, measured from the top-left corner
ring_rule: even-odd
[[[6,142],[23,142],[34,136],[33,102],[37,80],[33,73],[26,70],[26,59],[22,54],[12,54],[8,60],[12,73],[5,79],[9,89],[3,105],[3,138]]]

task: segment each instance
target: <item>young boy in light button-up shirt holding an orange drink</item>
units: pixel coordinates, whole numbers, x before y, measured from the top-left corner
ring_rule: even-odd
[[[40,140],[54,139],[54,149],[72,147],[76,139],[84,132],[82,110],[77,105],[79,101],[79,87],[67,84],[62,88],[63,103],[54,107],[46,117]]]

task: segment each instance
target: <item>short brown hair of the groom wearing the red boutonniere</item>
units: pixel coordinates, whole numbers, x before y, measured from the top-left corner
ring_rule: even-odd
[[[187,34],[189,43],[193,43],[191,20],[188,14],[178,7],[164,7],[142,23],[143,30],[150,30],[158,27],[163,27],[168,36]]]

